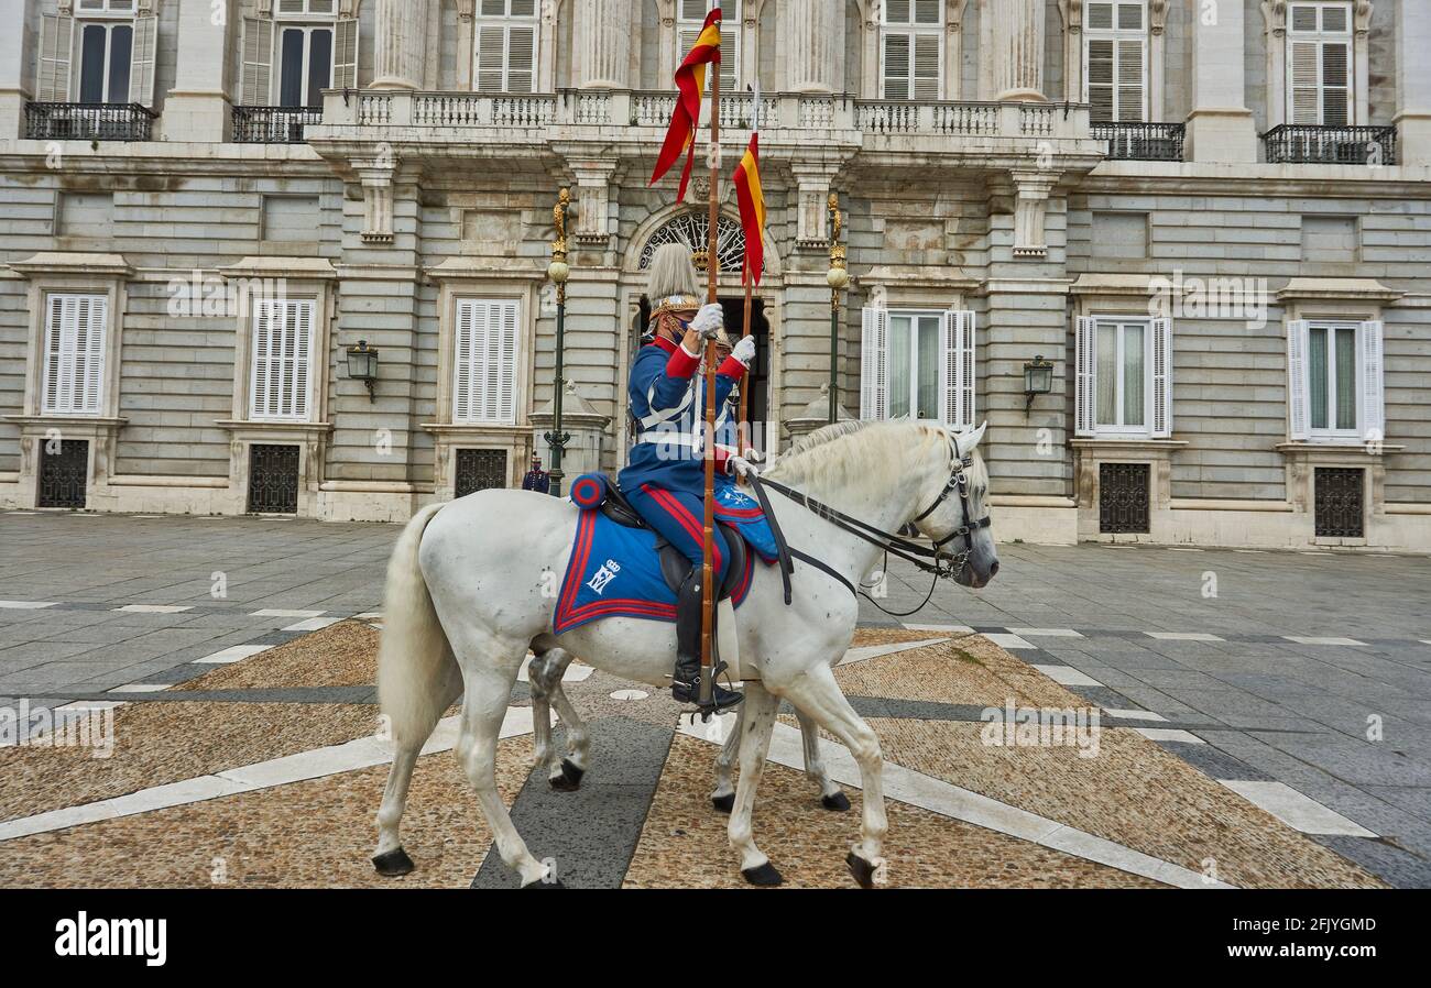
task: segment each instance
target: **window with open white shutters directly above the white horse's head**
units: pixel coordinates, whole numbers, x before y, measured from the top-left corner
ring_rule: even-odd
[[[860,418],[972,428],[975,315],[879,306],[863,315]]]

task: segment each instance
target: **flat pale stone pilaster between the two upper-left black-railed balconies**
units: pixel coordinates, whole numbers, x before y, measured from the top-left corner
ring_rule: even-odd
[[[220,143],[228,137],[232,107],[229,39],[238,3],[220,0],[222,17],[206,3],[179,4],[179,64],[175,87],[165,97],[165,140]],[[215,23],[218,21],[218,23]]]

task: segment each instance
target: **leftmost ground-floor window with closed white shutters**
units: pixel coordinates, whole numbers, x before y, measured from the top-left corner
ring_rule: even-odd
[[[100,413],[107,319],[109,297],[104,295],[54,293],[46,297],[43,413]]]

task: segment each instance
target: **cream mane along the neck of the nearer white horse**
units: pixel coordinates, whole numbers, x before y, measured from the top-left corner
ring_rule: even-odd
[[[943,426],[909,419],[877,422],[856,419],[821,426],[794,440],[767,470],[783,483],[833,488],[869,485],[889,476],[907,476],[916,463],[946,446]],[[989,475],[975,453],[970,486],[985,488]]]

